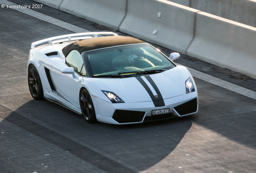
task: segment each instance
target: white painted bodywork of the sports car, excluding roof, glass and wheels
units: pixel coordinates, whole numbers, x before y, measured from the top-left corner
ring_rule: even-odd
[[[57,40],[67,40],[66,36],[69,37],[70,35],[53,38]],[[77,34],[77,36],[81,36],[81,34]],[[118,123],[115,121],[113,119],[113,114],[116,110],[145,112],[141,121],[132,123],[143,122],[145,117],[152,116],[151,114],[153,110],[158,109],[169,108],[170,113],[179,117],[190,115],[190,113],[180,115],[173,108],[195,98],[197,102],[197,109],[193,113],[198,111],[198,94],[196,85],[190,72],[184,66],[176,66],[175,68],[161,73],[149,74],[147,77],[138,76],[138,78],[141,78],[147,84],[149,90],[154,96],[158,95],[157,90],[161,93],[164,105],[156,107],[152,97],[149,95],[149,91],[147,91],[145,86],[143,86],[136,77],[88,78],[75,73],[75,77],[73,78],[72,74],[62,73],[62,69],[68,67],[65,64],[65,56],[62,53],[62,48],[67,46],[69,43],[54,44],[54,41],[50,42],[50,40],[47,38],[32,43],[28,60],[28,68],[30,64],[33,64],[37,68],[41,78],[44,97],[52,102],[58,103],[76,113],[81,114],[79,94],[81,88],[84,87],[89,91],[93,100],[97,120],[111,124],[130,124],[129,122]],[[48,41],[50,42],[49,45],[43,45],[35,48],[38,44]],[[58,52],[58,54],[50,56],[45,55],[51,52]],[[50,86],[49,76],[45,73],[45,68],[50,72],[50,77],[52,78],[56,91],[52,90]],[[154,87],[152,82],[147,79],[149,78],[148,76],[153,80],[156,87]],[[195,92],[186,94],[185,81],[190,77],[194,82]],[[125,103],[111,103],[102,91],[115,93]]]

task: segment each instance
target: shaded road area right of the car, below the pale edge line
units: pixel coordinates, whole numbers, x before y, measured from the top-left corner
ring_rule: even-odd
[[[190,116],[192,123],[256,149],[256,101],[197,78],[195,81],[199,112]]]

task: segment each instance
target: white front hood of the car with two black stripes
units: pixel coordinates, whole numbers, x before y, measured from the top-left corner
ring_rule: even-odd
[[[186,94],[185,81],[190,77],[184,66],[144,76],[128,78],[92,78],[101,91],[110,91],[125,103],[168,99]]]

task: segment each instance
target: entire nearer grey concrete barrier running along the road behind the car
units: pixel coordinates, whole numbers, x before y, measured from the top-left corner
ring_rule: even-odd
[[[47,5],[52,0],[37,0]],[[235,0],[234,0],[235,1]],[[53,7],[256,78],[256,28],[167,0],[62,0]]]

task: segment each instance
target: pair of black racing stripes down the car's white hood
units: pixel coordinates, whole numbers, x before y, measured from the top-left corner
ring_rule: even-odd
[[[153,82],[152,78],[149,77],[150,79],[148,79],[148,77],[146,78],[147,80],[149,80],[150,84],[152,85],[152,87],[155,89],[155,91],[157,92],[158,97],[156,98],[151,89],[149,88],[149,86],[146,84],[146,82],[141,78],[141,76],[137,76],[136,79],[140,82],[140,84],[142,84],[142,86],[145,88],[145,90],[147,91],[147,93],[149,94],[149,96],[151,97],[155,107],[162,107],[165,106],[165,103],[163,101],[163,97],[159,91],[159,89],[157,88],[155,82]],[[152,83],[153,82],[153,83]],[[159,97],[160,94],[160,97]]]

